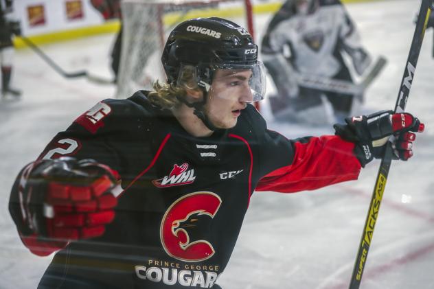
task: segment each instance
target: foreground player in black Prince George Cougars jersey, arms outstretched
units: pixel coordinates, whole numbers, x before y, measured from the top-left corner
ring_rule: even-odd
[[[409,159],[423,129],[382,111],[336,135],[268,130],[251,105],[265,89],[258,46],[225,19],[180,23],[161,60],[167,82],[99,102],[17,176],[9,208],[23,244],[57,252],[39,288],[220,288],[255,190],[354,180],[391,135]]]

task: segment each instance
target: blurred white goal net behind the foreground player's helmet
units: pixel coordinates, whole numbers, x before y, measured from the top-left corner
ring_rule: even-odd
[[[218,16],[234,21],[253,35],[250,0],[123,0],[122,52],[117,98],[165,81],[161,52],[170,31],[182,21]]]

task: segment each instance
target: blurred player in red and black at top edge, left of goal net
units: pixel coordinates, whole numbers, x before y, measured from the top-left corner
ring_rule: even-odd
[[[114,82],[117,81],[117,74],[119,73],[119,61],[121,58],[122,46],[122,12],[120,0],[91,0],[93,7],[98,10],[105,20],[119,19],[120,27],[119,32],[116,34],[115,43],[111,49],[111,69],[115,76]]]

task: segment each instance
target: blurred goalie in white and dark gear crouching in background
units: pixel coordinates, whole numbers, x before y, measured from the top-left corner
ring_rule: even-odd
[[[339,0],[287,0],[271,19],[261,52],[277,89],[269,99],[277,119],[333,123],[363,100],[363,95],[320,91],[297,82],[302,75],[353,82],[344,54],[358,75],[369,66],[371,58]]]

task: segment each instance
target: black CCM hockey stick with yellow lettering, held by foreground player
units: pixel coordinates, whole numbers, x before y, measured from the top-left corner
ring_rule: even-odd
[[[422,41],[424,38],[426,25],[428,23],[429,15],[431,14],[431,3],[433,0],[422,0],[420,5],[420,12],[418,15],[418,21],[416,23],[415,32],[413,35],[413,41],[411,41],[411,47],[409,56],[404,68],[404,76],[402,76],[400,92],[395,104],[395,112],[400,113],[405,110],[407,100],[409,98],[411,82],[415,73],[415,68],[418,63],[420,54],[420,48],[422,47]],[[369,204],[369,210],[365,220],[365,226],[363,227],[363,233],[361,242],[358,246],[358,252],[356,262],[354,264],[350,289],[358,289],[361,284],[363,275],[363,269],[365,268],[367,253],[369,246],[371,246],[372,237],[374,235],[374,228],[378,219],[378,212],[380,211],[380,205],[382,200],[382,194],[385,190],[387,175],[391,165],[393,156],[393,148],[389,142],[386,146],[385,155],[382,157],[380,169],[378,170],[374,191],[372,192],[371,203]]]

